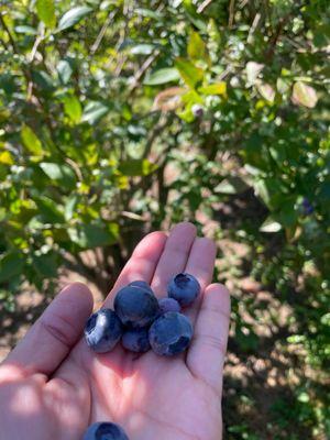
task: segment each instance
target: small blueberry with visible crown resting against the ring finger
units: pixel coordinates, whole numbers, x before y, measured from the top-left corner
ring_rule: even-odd
[[[176,299],[182,307],[189,306],[198,297],[200,285],[190,274],[177,274],[167,286],[169,298]]]

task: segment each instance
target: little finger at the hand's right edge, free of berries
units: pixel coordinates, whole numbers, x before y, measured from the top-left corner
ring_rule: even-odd
[[[221,284],[209,285],[202,297],[193,343],[186,359],[195,377],[209,384],[219,395],[227,350],[230,295]]]

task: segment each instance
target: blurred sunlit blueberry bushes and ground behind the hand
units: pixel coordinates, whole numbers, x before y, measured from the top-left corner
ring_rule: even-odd
[[[329,2],[0,4],[2,312],[193,220],[233,294],[226,438],[330,438]]]

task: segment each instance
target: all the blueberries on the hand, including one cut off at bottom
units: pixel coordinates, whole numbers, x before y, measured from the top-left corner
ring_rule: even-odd
[[[180,273],[167,286],[167,298],[157,299],[151,286],[141,280],[121,288],[114,310],[102,308],[89,317],[85,327],[87,344],[97,353],[114,349],[121,340],[124,349],[173,356],[184,352],[193,338],[189,319],[180,314],[200,293],[198,280]],[[82,440],[129,440],[123,429],[111,422],[91,425]]]

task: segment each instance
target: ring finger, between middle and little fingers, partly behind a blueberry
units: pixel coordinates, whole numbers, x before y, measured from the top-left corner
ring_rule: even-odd
[[[194,275],[200,284],[201,295],[193,306],[185,310],[185,314],[191,319],[193,324],[195,323],[202,300],[204,290],[212,280],[216,253],[217,249],[212,240],[205,238],[195,239],[185,267],[185,272]]]

